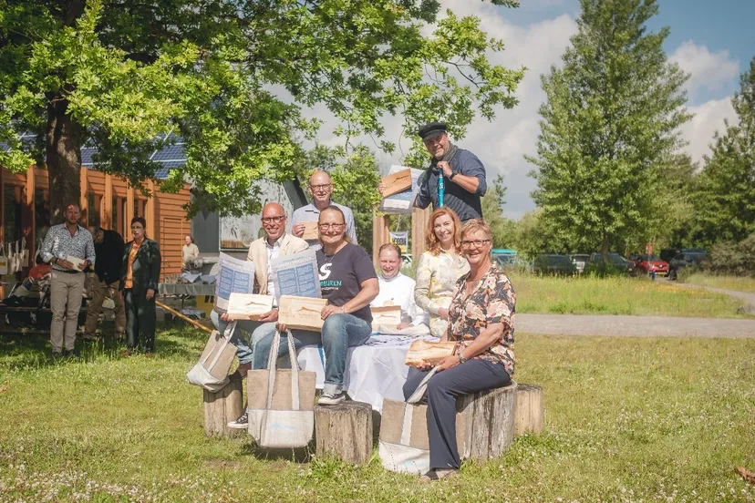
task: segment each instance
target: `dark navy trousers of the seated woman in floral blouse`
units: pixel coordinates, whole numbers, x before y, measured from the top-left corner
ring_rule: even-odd
[[[408,399],[427,372],[412,369],[404,384]],[[433,375],[425,399],[428,404],[430,468],[459,468],[461,459],[456,445],[456,397],[510,385],[511,376],[503,364],[474,358]],[[423,400],[423,401],[424,401]]]

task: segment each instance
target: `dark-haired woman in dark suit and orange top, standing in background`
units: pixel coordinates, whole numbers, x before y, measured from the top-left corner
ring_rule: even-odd
[[[146,236],[147,221],[131,219],[131,235],[123,250],[119,290],[126,303],[126,344],[124,356],[137,347],[144,354],[155,352],[155,294],[160,282],[160,245]],[[140,337],[141,334],[141,337]],[[141,339],[141,340],[140,340]]]

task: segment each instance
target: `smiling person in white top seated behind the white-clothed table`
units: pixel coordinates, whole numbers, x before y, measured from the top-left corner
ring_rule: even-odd
[[[384,244],[378,253],[381,274],[378,275],[380,292],[371,303],[372,307],[384,305],[401,306],[401,323],[398,329],[429,325],[428,313],[414,302],[414,280],[400,272],[401,249],[394,243]]]

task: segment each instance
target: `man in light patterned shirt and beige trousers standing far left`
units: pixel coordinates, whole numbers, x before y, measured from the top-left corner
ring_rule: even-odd
[[[65,216],[65,223],[54,225],[47,231],[41,252],[42,260],[52,265],[50,343],[53,358],[76,355],[78,312],[86,279],[84,270],[95,264],[96,257],[92,235],[78,225],[81,217],[78,204],[69,204]],[[72,260],[80,262],[75,264]]]

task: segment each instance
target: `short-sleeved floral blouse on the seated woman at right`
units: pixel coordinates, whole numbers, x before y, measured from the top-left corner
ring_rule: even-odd
[[[495,265],[482,276],[475,289],[466,295],[467,277],[456,282],[456,294],[449,308],[449,341],[459,341],[461,346],[469,346],[491,323],[503,323],[505,328],[501,340],[475,358],[482,358],[494,364],[503,364],[506,372],[513,375],[514,353],[514,313],[516,294],[509,278]]]

